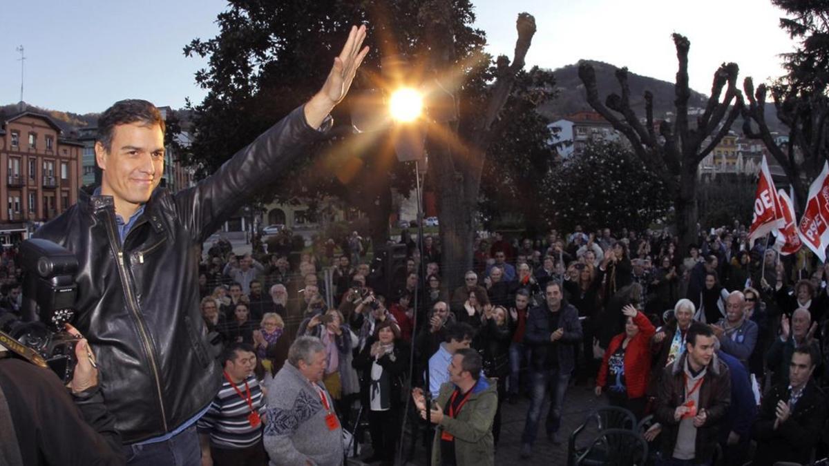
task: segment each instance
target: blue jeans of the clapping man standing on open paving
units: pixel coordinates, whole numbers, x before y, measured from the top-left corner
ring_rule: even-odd
[[[550,384],[550,410],[547,412],[545,428],[547,434],[559,431],[561,425],[561,409],[565,403],[567,384],[570,382],[570,371],[550,369],[531,372],[530,409],[526,412],[524,433],[521,434],[522,444],[533,444],[538,434],[538,420],[541,416],[541,407],[547,394],[547,384]]]

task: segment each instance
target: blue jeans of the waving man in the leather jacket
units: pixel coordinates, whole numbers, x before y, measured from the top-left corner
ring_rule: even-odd
[[[165,442],[124,445],[129,466],[201,466],[201,446],[196,425]]]

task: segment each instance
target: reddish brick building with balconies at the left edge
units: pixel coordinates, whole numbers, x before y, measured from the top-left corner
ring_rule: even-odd
[[[27,227],[75,203],[82,148],[45,114],[23,111],[0,120],[0,244],[25,239]]]

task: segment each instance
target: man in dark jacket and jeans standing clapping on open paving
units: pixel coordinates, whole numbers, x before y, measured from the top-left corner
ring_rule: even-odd
[[[530,309],[526,321],[524,342],[532,348],[530,409],[526,413],[524,433],[521,434],[521,458],[529,458],[536,440],[541,405],[551,384],[552,399],[547,414],[547,436],[560,444],[558,434],[561,408],[570,374],[575,366],[575,346],[581,342],[579,311],[563,299],[561,284],[551,281],[545,289],[546,302]]]

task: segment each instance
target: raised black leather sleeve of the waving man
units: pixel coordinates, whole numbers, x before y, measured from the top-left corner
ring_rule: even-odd
[[[194,241],[203,242],[250,197],[273,182],[308,143],[322,137],[331,120],[323,123],[322,131],[313,129],[305,121],[303,109],[294,109],[195,187],[177,192],[178,216]]]

